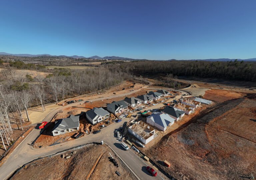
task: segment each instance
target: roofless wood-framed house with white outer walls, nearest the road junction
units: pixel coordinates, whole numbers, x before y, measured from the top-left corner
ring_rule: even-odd
[[[142,143],[147,144],[149,141],[154,139],[154,134],[158,132],[150,125],[139,121],[128,128],[128,132],[134,135]]]

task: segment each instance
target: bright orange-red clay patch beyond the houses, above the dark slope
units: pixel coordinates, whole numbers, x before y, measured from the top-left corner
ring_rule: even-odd
[[[235,92],[230,90],[218,90],[218,89],[211,89],[207,90],[204,94],[205,99],[213,100],[216,102],[224,102],[229,99],[239,98],[244,96],[244,93]]]

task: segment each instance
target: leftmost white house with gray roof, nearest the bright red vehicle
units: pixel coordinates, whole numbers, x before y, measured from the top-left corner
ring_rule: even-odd
[[[79,116],[70,115],[68,118],[55,121],[55,126],[52,131],[53,136],[65,134],[79,130]]]

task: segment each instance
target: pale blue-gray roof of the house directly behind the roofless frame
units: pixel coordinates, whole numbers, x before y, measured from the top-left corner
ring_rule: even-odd
[[[147,118],[150,118],[152,121],[154,121],[156,124],[159,124],[162,127],[167,127],[170,123],[174,122],[175,120],[168,114],[164,114],[161,112],[153,112]]]

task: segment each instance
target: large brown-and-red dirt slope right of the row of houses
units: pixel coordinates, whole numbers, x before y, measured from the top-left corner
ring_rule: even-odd
[[[217,103],[142,151],[176,179],[248,179],[256,170],[255,109],[255,96]]]

